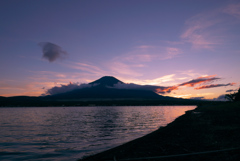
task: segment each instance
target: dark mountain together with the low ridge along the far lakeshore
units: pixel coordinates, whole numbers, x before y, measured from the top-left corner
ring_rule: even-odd
[[[120,85],[120,86],[119,86]],[[122,87],[123,85],[123,87]],[[4,107],[41,107],[41,106],[111,106],[111,105],[192,105],[199,101],[173,98],[137,88],[125,88],[128,85],[112,76],[104,76],[68,92],[30,97],[0,97],[0,106]],[[202,101],[200,101],[202,102]]]

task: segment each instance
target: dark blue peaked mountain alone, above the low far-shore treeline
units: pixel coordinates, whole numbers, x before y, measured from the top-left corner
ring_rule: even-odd
[[[92,85],[92,87],[75,89],[69,92],[55,94],[46,97],[51,99],[81,99],[81,98],[156,99],[163,97],[150,90],[114,88],[114,85],[119,83],[125,84],[112,76],[104,76],[96,81],[89,83],[90,85]]]

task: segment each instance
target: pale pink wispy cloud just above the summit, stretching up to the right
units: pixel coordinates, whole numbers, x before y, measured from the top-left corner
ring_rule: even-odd
[[[150,70],[152,67],[151,63],[156,64],[166,59],[174,59],[181,53],[182,51],[179,48],[174,47],[135,46],[131,51],[106,62],[105,66],[108,67],[108,71],[112,75],[139,77],[143,75],[143,70]]]

